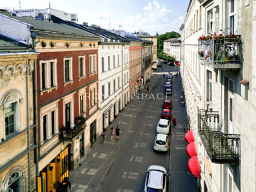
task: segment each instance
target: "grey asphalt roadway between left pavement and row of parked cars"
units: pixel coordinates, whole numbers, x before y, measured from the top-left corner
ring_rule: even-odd
[[[97,191],[143,191],[148,166],[158,164],[169,170],[170,149],[168,153],[153,150],[156,125],[161,118],[165,99],[164,84],[167,79],[163,78],[163,73],[168,74],[169,70],[172,72],[175,68],[167,65],[163,65],[163,70],[158,68],[154,74],[157,79],[150,92],[140,96],[144,97],[144,104],[118,147],[118,153]],[[136,102],[141,100],[134,100],[132,105],[136,105]]]

